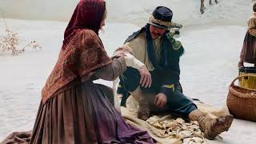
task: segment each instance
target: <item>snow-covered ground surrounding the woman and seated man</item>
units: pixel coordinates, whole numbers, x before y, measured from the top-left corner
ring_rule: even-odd
[[[6,2],[6,6],[10,1],[1,0]],[[252,3],[250,0],[219,0],[217,6],[206,4],[206,12],[201,15],[199,0],[186,1],[106,1],[109,2],[108,23],[100,37],[111,55],[128,35],[145,24],[149,16],[146,11],[151,12],[159,5],[169,6],[174,10],[174,22],[184,26],[178,38],[186,50],[180,62],[184,93],[221,108],[226,103],[230,82],[238,75],[238,56]],[[58,58],[67,25],[67,22],[46,21],[45,18],[42,18],[44,21],[18,18],[23,17],[6,19],[9,28],[19,34],[21,44],[36,40],[42,50],[27,50],[15,57],[0,53],[0,142],[15,130],[33,128],[41,89]],[[0,36],[2,34],[5,34],[5,25],[1,19]],[[99,82],[111,85],[111,82]],[[209,142],[254,143],[256,123],[235,119],[229,132],[221,134],[221,137]]]

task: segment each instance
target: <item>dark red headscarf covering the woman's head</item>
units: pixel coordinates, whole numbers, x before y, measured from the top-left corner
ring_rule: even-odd
[[[80,0],[64,33],[62,50],[75,33],[82,29],[94,30],[98,34],[106,5],[103,0]]]

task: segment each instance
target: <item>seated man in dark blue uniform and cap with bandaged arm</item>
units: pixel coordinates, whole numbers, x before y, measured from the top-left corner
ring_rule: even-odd
[[[122,105],[127,92],[134,96],[140,107],[138,118],[150,118],[150,110],[153,110],[150,103],[153,103],[159,110],[182,114],[185,118],[198,121],[206,138],[213,139],[227,131],[234,118],[232,115],[208,118],[182,94],[179,58],[184,49],[181,42],[169,34],[172,16],[170,9],[158,6],[146,26],[127,38],[124,46],[115,51],[115,54],[125,54],[134,63],[120,77],[118,93],[123,94]],[[152,94],[153,102],[148,96]]]

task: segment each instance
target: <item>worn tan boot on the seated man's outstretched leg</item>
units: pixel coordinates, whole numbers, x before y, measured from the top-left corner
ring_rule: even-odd
[[[200,128],[208,139],[214,139],[218,134],[229,130],[233,122],[233,115],[228,114],[218,118],[206,117],[200,110],[194,110],[189,114],[192,121],[198,121]]]

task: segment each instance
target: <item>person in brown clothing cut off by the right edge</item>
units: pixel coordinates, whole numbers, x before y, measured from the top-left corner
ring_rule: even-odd
[[[238,67],[244,66],[244,62],[256,66],[256,2],[253,6],[253,14],[247,22],[247,32],[243,41]]]

